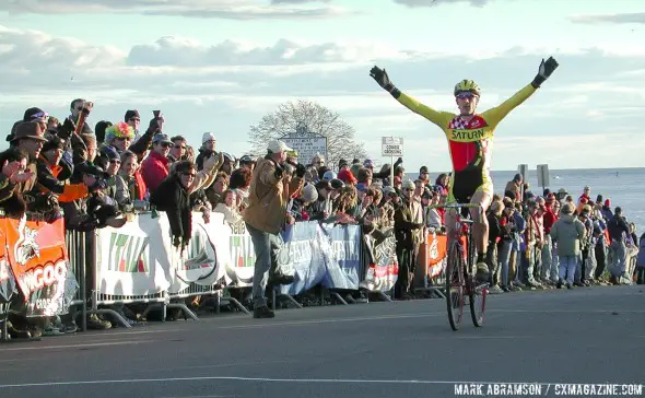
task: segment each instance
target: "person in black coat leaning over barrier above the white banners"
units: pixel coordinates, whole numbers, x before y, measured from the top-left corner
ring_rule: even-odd
[[[173,246],[184,249],[192,233],[191,203],[188,187],[192,184],[197,167],[191,161],[180,161],[175,171],[152,192],[150,203],[165,211],[173,234]]]

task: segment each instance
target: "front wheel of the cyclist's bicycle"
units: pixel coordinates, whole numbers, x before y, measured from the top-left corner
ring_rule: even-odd
[[[459,242],[450,243],[446,265],[446,305],[448,321],[458,330],[464,315],[464,248]]]

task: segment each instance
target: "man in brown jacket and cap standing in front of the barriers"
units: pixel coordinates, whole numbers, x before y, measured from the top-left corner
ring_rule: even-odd
[[[283,178],[286,152],[291,148],[282,141],[269,141],[267,155],[258,160],[250,182],[248,207],[244,221],[256,251],[253,281],[254,318],[272,318],[275,315],[267,306],[267,282],[290,284],[293,277],[275,272],[277,254],[282,247],[282,230],[286,219],[289,198],[302,185],[306,168],[298,164],[296,177],[290,184]],[[271,270],[271,272],[269,272]],[[270,278],[269,278],[270,277]]]

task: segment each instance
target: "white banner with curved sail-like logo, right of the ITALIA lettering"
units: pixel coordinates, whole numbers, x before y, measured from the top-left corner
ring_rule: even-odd
[[[171,265],[174,266],[173,283],[168,292],[180,293],[190,283],[212,285],[224,277],[225,262],[220,258],[230,258],[230,248],[226,239],[222,238],[231,234],[228,223],[224,221],[224,214],[211,213],[210,222],[206,223],[200,212],[192,213],[192,231],[190,243],[184,253],[175,247],[168,247]],[[224,264],[223,264],[224,262]]]

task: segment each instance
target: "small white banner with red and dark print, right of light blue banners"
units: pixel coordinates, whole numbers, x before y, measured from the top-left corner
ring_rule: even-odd
[[[390,236],[375,245],[374,237],[365,236],[365,246],[370,253],[371,261],[365,280],[361,282],[361,288],[373,292],[391,290],[399,274],[397,241]]]

